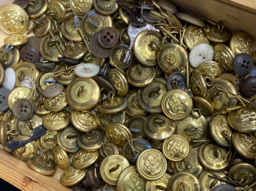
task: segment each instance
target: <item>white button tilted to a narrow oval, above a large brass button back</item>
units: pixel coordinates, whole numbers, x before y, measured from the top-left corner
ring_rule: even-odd
[[[91,78],[99,73],[99,67],[92,63],[84,63],[75,67],[75,74],[81,78]]]

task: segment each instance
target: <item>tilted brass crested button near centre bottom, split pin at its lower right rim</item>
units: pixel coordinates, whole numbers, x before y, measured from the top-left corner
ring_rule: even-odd
[[[109,123],[105,129],[106,137],[119,147],[123,147],[126,143],[126,138],[131,139],[130,130],[121,123]]]

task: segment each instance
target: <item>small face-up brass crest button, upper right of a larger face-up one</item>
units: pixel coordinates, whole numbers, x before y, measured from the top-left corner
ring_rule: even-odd
[[[163,142],[163,154],[168,160],[180,161],[189,153],[187,140],[180,135],[172,135]]]

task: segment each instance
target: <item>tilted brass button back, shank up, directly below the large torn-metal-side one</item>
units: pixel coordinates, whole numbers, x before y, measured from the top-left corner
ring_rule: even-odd
[[[132,65],[127,70],[127,80],[135,87],[145,87],[151,84],[156,78],[155,67],[148,67],[140,63]]]

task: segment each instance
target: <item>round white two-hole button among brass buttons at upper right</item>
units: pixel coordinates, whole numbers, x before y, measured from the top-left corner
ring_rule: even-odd
[[[202,43],[196,45],[189,54],[189,63],[194,68],[197,68],[202,62],[212,61],[214,56],[211,45]]]

